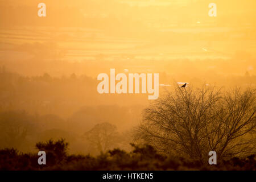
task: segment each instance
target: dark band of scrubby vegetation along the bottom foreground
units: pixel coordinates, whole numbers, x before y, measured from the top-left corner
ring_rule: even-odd
[[[98,156],[69,155],[65,140],[39,142],[38,150],[46,151],[46,165],[38,164],[37,154],[22,154],[6,148],[0,150],[0,170],[255,170],[255,155],[246,158],[217,160],[210,166],[199,160],[159,154],[152,146],[131,144],[133,150],[114,149]]]

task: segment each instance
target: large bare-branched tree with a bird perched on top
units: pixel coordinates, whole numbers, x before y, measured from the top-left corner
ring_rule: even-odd
[[[255,90],[204,86],[167,92],[143,111],[135,132],[158,150],[205,160],[255,154]]]

